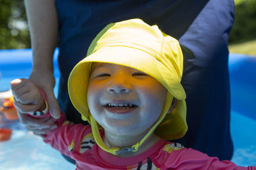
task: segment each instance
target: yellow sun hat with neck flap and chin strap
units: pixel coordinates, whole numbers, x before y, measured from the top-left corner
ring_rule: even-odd
[[[68,94],[83,120],[92,125],[97,144],[113,154],[120,148],[108,148],[100,137],[99,128],[88,108],[87,90],[92,62],[106,62],[138,69],[159,81],[168,90],[163,110],[156,124],[138,143],[131,146],[136,152],[145,139],[155,132],[170,140],[179,139],[188,130],[186,123],[186,94],[180,84],[183,55],[177,39],[161,32],[157,25],[148,25],[140,19],[125,20],[107,25],[93,39],[87,57],[81,60],[68,78]],[[168,113],[172,99],[177,106]]]

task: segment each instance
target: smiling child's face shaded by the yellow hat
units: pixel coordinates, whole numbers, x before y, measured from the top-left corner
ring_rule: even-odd
[[[138,135],[159,118],[166,89],[156,79],[131,67],[94,63],[87,97],[92,116],[105,131]]]

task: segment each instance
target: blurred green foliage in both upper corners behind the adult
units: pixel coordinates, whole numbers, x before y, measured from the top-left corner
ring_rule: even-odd
[[[225,0],[223,0],[225,1]],[[256,0],[235,0],[229,43],[256,39]],[[0,0],[0,49],[31,48],[23,0]]]

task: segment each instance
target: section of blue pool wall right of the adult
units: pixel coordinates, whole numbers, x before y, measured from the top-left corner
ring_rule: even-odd
[[[231,110],[256,120],[256,56],[231,53],[228,64]]]

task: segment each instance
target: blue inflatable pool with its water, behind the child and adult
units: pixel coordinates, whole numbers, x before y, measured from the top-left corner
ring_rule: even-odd
[[[60,72],[54,53],[56,87]],[[10,89],[10,81],[28,78],[31,50],[0,50],[0,92]],[[234,141],[232,161],[239,166],[256,166],[256,57],[230,54],[231,134]],[[0,128],[12,129],[11,139],[0,141],[0,169],[75,169],[59,152],[26,131],[19,120],[0,114]]]

